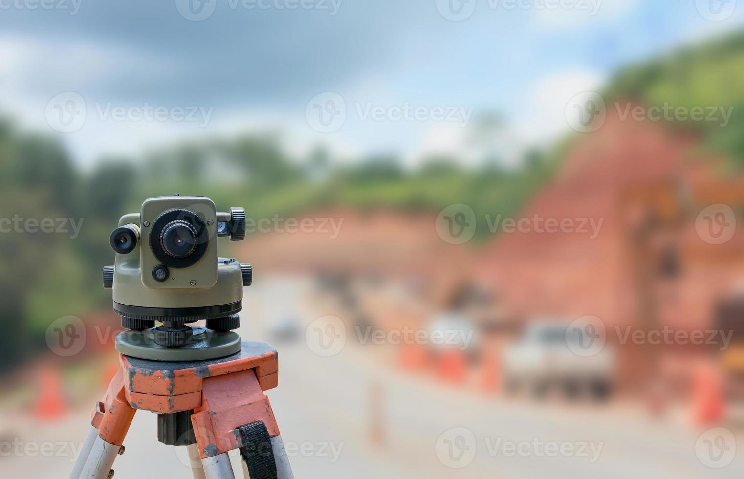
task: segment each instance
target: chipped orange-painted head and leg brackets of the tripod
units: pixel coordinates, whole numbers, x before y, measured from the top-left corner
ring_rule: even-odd
[[[253,343],[243,352],[264,351]],[[135,361],[136,362],[136,361]],[[269,399],[263,390],[276,388],[279,361],[275,350],[255,356],[215,361],[169,370],[167,363],[132,361],[121,355],[121,369],[93,411],[92,424],[101,439],[121,446],[135,411],[155,413],[194,410],[191,422],[202,458],[243,446],[236,428],[263,421],[272,437],[279,435]]]

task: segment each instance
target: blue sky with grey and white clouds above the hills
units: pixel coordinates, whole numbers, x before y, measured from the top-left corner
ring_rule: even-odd
[[[742,3],[739,1],[739,3]],[[565,134],[571,97],[740,28],[737,0],[0,0],[0,112],[111,155],[274,132],[295,155],[504,161]],[[493,143],[493,141],[492,141]],[[473,158],[475,158],[475,153]]]

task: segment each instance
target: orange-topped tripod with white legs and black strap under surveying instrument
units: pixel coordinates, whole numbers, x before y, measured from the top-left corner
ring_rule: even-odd
[[[121,354],[70,479],[112,478],[135,411],[158,413],[158,439],[187,446],[194,479],[234,479],[228,451],[240,449],[245,479],[294,479],[264,390],[278,382],[278,355],[243,341],[240,352],[203,361],[153,361]]]

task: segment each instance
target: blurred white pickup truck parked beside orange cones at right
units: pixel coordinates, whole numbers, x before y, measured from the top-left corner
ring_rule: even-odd
[[[566,321],[528,324],[522,336],[504,348],[504,389],[507,393],[527,390],[536,398],[558,389],[569,399],[608,399],[615,351],[603,346],[587,354],[589,340],[583,328],[569,327]]]

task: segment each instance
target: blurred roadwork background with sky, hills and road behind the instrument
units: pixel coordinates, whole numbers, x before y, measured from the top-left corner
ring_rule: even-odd
[[[0,8],[3,477],[67,477],[175,192],[248,212],[297,478],[744,474],[740,1]],[[155,434],[116,477],[190,477]]]

